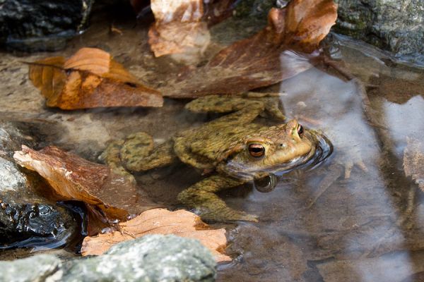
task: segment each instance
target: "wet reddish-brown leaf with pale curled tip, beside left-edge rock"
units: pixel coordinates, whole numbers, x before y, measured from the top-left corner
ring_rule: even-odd
[[[133,178],[121,176],[109,166],[92,163],[57,147],[35,151],[23,145],[22,151],[15,152],[13,157],[21,166],[40,173],[58,200],[85,202],[90,213],[106,226],[158,207],[136,189]]]

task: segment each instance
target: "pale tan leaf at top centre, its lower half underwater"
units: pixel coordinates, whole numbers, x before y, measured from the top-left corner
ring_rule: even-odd
[[[179,61],[196,62],[209,42],[208,25],[202,21],[203,0],[151,0],[155,23],[148,31],[148,43],[155,56],[174,56]]]

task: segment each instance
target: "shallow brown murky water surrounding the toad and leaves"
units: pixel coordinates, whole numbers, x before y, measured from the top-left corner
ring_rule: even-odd
[[[179,68],[169,57],[153,58],[147,23],[105,15],[93,22],[57,55],[100,47],[153,87]],[[122,35],[110,32],[111,23]],[[206,56],[260,28],[234,19],[220,23],[211,30],[213,43]],[[365,85],[372,111],[365,114],[360,85],[332,69],[312,68],[266,89],[283,93],[289,117],[322,129],[334,144],[334,154],[317,168],[286,174],[271,192],[245,187],[221,195],[230,207],[259,215],[259,223],[223,225],[234,261],[219,266],[218,281],[422,278],[424,195],[406,177],[403,161],[406,146],[424,138],[424,73],[393,63],[363,44],[336,39],[331,41],[335,56]],[[40,147],[57,145],[96,161],[109,140],[143,130],[161,142],[211,118],[184,111],[185,101],[171,99],[160,109],[47,109],[28,81],[27,66],[18,61],[54,55],[0,54],[0,117],[34,123],[45,136]],[[362,162],[366,169],[358,165]],[[352,167],[349,178],[346,166]],[[177,207],[178,192],[199,179],[199,173],[184,165],[137,176],[141,188],[167,207]]]

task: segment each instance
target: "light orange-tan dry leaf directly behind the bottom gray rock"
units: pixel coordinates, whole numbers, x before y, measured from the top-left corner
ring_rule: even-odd
[[[167,209],[150,209],[134,219],[119,223],[119,231],[84,238],[81,254],[102,255],[112,245],[148,234],[174,234],[194,238],[208,247],[218,262],[230,261],[223,254],[227,245],[225,229],[207,229],[206,223],[192,212],[180,209],[170,212]]]

